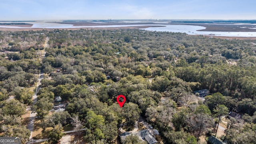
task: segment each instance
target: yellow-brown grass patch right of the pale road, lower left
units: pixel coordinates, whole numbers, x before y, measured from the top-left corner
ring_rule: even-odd
[[[42,133],[43,129],[40,127],[40,122],[41,122],[41,120],[35,120],[35,123],[34,123],[34,130],[32,133],[32,138],[34,138],[36,140],[47,138],[50,130],[52,130],[52,127],[46,128],[45,132]]]

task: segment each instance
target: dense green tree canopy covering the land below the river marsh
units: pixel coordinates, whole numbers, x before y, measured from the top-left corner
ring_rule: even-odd
[[[85,128],[80,134],[85,142],[114,143],[120,125],[132,130],[140,116],[159,131],[159,143],[200,143],[200,136],[215,136],[222,116],[227,124],[221,140],[256,143],[256,45],[251,41],[137,29],[30,30],[0,32],[0,51],[2,136],[28,141],[21,116],[31,107],[43,132],[52,127],[52,143],[67,124]],[[41,72],[33,105],[31,87]],[[201,89],[210,95],[193,94]],[[123,108],[116,102],[120,94],[126,96]],[[55,96],[68,105],[49,114]],[[230,111],[242,118],[229,118]]]

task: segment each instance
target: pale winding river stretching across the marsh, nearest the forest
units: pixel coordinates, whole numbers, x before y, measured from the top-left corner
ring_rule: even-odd
[[[127,26],[164,26],[143,28],[143,30],[158,32],[182,32],[191,35],[215,35],[215,36],[237,36],[237,37],[256,37],[256,32],[203,32],[197,31],[205,29],[203,26],[190,25],[172,25],[172,24],[133,24],[133,25],[111,25],[111,26],[73,26],[72,24],[57,24],[52,22],[27,22],[33,24],[32,28],[111,28],[111,27],[127,27]],[[0,26],[1,28],[24,28],[18,26]]]

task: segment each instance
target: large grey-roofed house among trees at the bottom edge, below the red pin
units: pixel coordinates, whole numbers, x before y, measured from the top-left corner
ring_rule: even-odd
[[[146,142],[148,142],[148,144],[157,143],[156,139],[150,134],[149,130],[140,130],[138,132],[133,133],[124,132],[119,136],[121,140],[125,140],[126,136],[130,136],[131,134],[138,136],[141,140],[145,140]]]

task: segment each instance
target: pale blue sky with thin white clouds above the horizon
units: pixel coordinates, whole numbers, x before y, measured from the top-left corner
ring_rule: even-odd
[[[0,0],[0,20],[256,20],[256,0]]]

